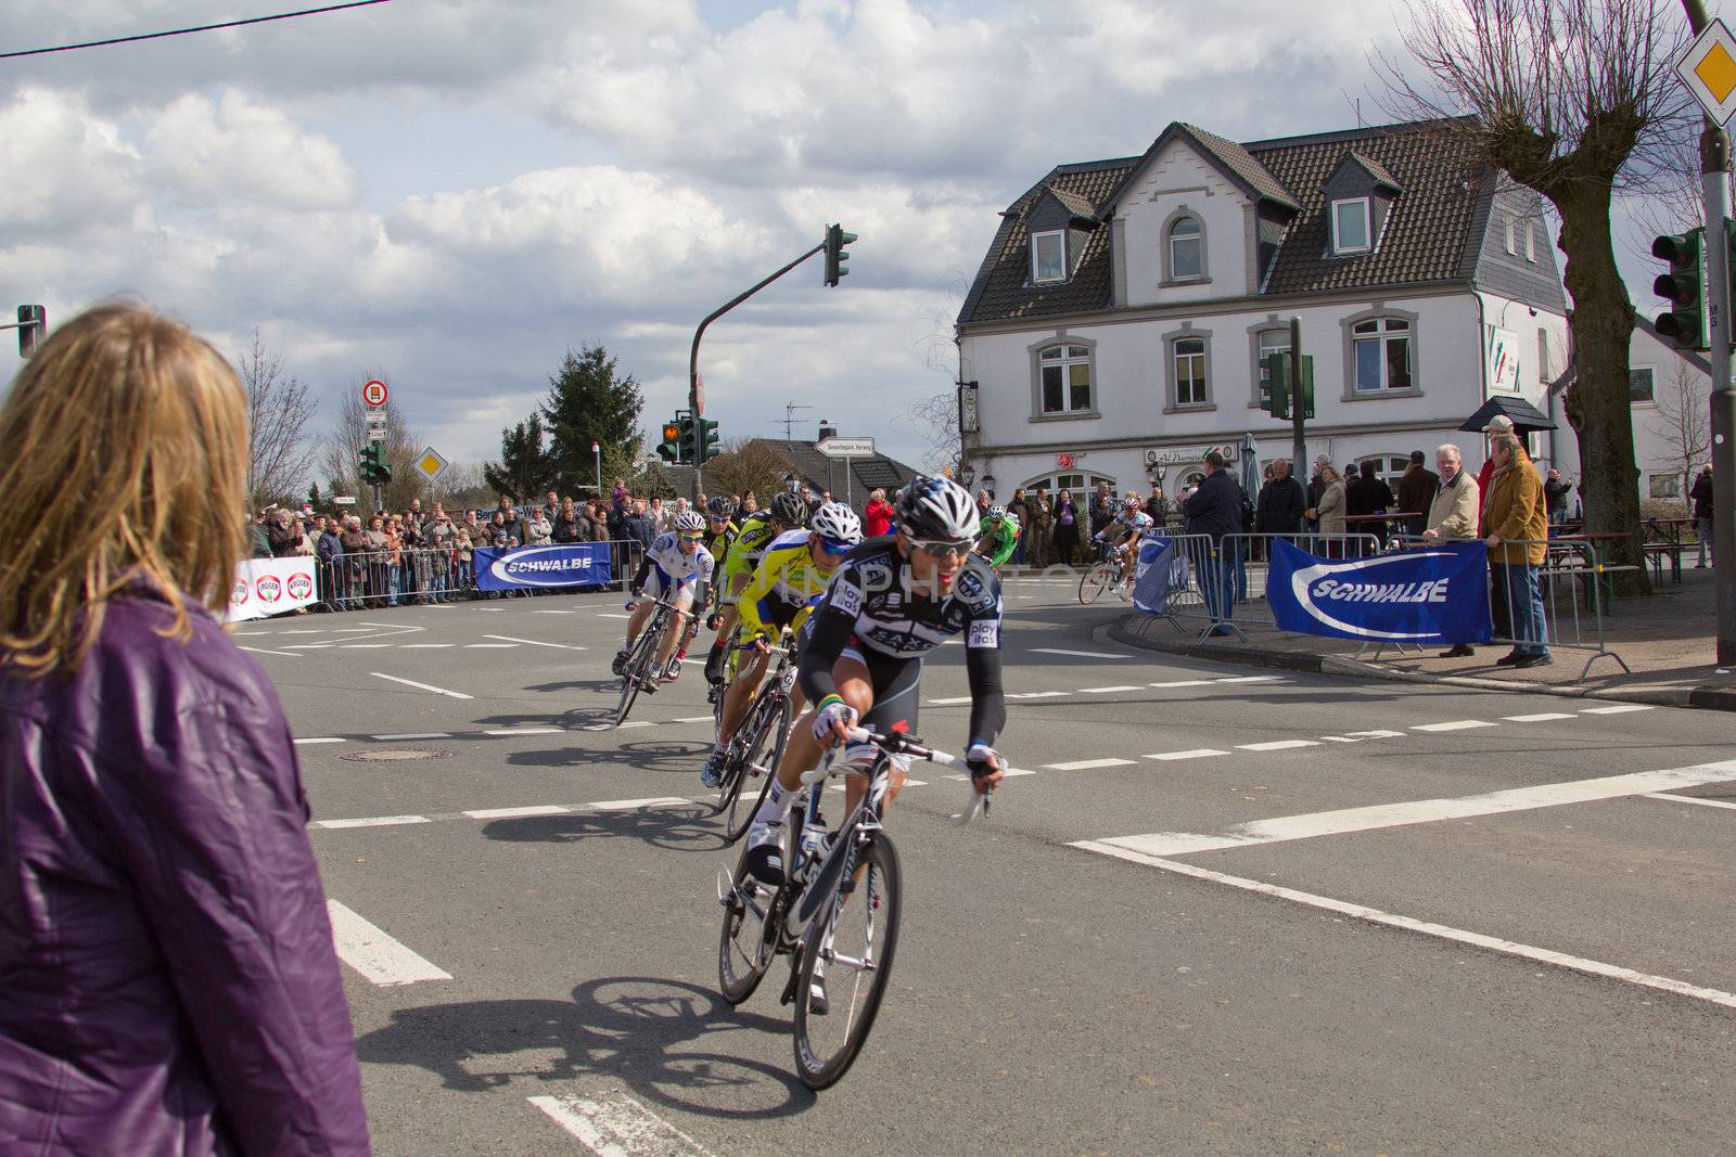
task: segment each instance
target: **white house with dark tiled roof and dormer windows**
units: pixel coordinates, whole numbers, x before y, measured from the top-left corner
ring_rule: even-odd
[[[958,314],[963,444],[996,491],[1175,494],[1212,446],[1290,456],[1259,408],[1260,357],[1314,357],[1309,454],[1463,448],[1496,392],[1561,422],[1535,453],[1573,468],[1549,383],[1566,295],[1529,189],[1470,158],[1453,121],[1234,144],[1174,123],[1134,158],[1059,165],[1021,194]],[[962,404],[962,415],[972,406]],[[1299,474],[1305,474],[1299,472]]]

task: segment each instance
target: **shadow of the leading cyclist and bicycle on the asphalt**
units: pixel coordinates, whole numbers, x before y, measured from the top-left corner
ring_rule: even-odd
[[[519,1086],[535,1095],[524,1082],[606,1077],[707,1117],[786,1117],[814,1103],[774,1065],[693,1048],[733,1030],[786,1034],[790,1025],[682,980],[604,977],[573,989],[571,1001],[403,1008],[392,1023],[356,1039],[356,1056],[425,1069],[458,1093]]]

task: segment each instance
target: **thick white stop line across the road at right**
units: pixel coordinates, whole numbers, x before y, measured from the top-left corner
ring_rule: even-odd
[[[1220,836],[1187,831],[1163,831],[1149,836],[1101,840],[1099,843],[1113,843],[1142,855],[1189,855],[1193,852],[1217,852],[1222,848],[1246,848],[1262,843],[1312,840],[1314,836],[1344,836],[1358,831],[1375,831],[1380,827],[1406,827],[1410,824],[1429,824],[1443,819],[1529,812],[1535,808],[1561,807],[1566,803],[1595,803],[1597,800],[1651,794],[1668,788],[1722,784],[1733,779],[1736,779],[1736,760],[1726,760],[1722,763],[1700,763],[1696,767],[1677,767],[1660,772],[1632,772],[1627,775],[1604,775],[1601,779],[1575,779],[1568,782],[1538,784],[1535,788],[1489,791],[1479,796],[1411,800],[1408,803],[1375,803],[1371,807],[1342,808],[1337,812],[1279,815],[1276,819],[1238,824]]]

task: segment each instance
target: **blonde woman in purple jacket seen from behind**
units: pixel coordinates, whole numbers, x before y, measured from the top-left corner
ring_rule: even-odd
[[[234,369],[135,305],[0,406],[7,1152],[368,1150],[288,722],[217,618],[245,463]]]

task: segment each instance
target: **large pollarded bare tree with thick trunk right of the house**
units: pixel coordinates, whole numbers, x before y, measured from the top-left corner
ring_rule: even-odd
[[[1443,118],[1469,154],[1543,196],[1561,217],[1573,295],[1575,383],[1587,529],[1620,533],[1611,555],[1641,559],[1639,468],[1628,404],[1634,307],[1616,271],[1611,201],[1679,172],[1670,139],[1689,99],[1670,62],[1682,42],[1663,0],[1415,0],[1404,47],[1427,82],[1382,59],[1401,116]],[[1432,87],[1425,87],[1432,82]]]

